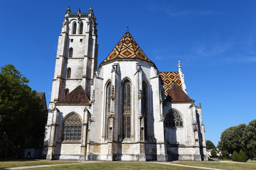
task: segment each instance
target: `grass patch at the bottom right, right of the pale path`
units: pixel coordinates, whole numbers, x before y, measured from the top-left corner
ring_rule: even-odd
[[[171,164],[183,164],[183,165],[190,165],[190,166],[203,166],[208,168],[215,168],[215,169],[230,169],[230,170],[237,170],[237,169],[256,169],[256,164],[248,164],[243,162],[171,162]]]

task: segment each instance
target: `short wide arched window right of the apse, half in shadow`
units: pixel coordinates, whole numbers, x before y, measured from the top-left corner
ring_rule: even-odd
[[[183,127],[183,121],[180,113],[172,109],[169,113],[166,114],[165,125],[166,128]]]

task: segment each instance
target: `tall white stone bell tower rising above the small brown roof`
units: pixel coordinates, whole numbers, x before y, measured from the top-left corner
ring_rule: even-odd
[[[97,23],[90,7],[88,13],[65,12],[55,62],[49,109],[77,86],[90,96],[91,81],[97,69]]]

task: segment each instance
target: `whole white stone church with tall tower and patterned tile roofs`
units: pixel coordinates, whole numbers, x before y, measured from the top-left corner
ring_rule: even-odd
[[[110,49],[111,51],[112,49]],[[65,12],[43,144],[46,159],[208,159],[201,104],[181,62],[160,72],[127,28],[97,68],[95,13]]]

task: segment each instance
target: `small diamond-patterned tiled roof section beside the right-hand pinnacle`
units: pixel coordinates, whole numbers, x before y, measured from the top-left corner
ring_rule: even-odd
[[[176,82],[182,89],[181,77],[178,72],[160,72],[161,79],[164,81],[164,94],[167,96],[171,90],[171,84]]]

